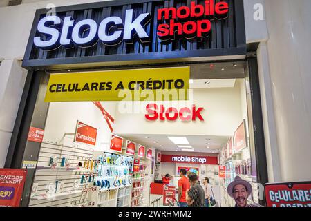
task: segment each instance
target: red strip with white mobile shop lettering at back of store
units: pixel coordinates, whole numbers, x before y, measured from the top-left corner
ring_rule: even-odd
[[[209,156],[162,155],[161,162],[218,165],[217,157]]]

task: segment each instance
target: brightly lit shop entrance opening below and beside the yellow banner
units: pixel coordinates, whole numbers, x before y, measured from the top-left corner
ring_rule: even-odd
[[[202,185],[209,179],[214,206],[234,206],[229,182],[256,177],[245,66],[191,64],[187,101],[46,103],[39,96],[36,108],[48,106],[28,206],[178,206],[182,169]]]

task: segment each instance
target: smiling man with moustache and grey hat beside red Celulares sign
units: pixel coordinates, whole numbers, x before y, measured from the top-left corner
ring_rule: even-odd
[[[228,185],[228,194],[236,201],[236,207],[263,207],[259,204],[247,204],[247,198],[252,194],[252,185],[242,180],[238,175]]]

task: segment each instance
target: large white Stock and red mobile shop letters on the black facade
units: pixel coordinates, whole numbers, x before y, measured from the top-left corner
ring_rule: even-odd
[[[207,0],[199,4],[191,1],[188,6],[159,8],[156,15],[156,35],[162,40],[192,39],[207,37],[211,32],[211,19],[225,19],[229,12],[227,1]],[[115,46],[125,41],[133,44],[135,35],[142,43],[151,41],[144,28],[151,21],[151,12],[135,15],[133,9],[124,11],[124,19],[117,16],[75,21],[73,16],[48,15],[37,23],[41,36],[33,38],[37,48],[55,50],[59,46],[91,47],[101,41],[106,46]]]

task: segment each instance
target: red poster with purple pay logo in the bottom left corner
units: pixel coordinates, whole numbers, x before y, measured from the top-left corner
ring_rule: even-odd
[[[27,171],[0,169],[0,207],[19,207]]]

